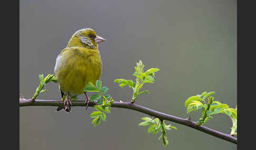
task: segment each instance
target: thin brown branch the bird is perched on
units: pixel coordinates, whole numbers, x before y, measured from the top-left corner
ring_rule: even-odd
[[[19,101],[19,106],[59,106],[63,105],[63,101],[54,101],[54,100],[35,100],[34,102],[30,100],[21,100]],[[72,106],[84,106],[84,101],[72,101]],[[88,106],[94,106],[93,102],[90,102]],[[160,120],[168,120],[171,122],[176,122],[179,124],[183,124],[185,126],[192,127],[196,130],[202,131],[204,133],[213,135],[215,137],[221,138],[223,140],[232,142],[234,144],[238,144],[237,138],[233,137],[230,134],[224,134],[219,131],[212,130],[211,128],[205,127],[205,126],[198,126],[195,122],[188,121],[186,119],[182,119],[180,117],[176,117],[173,115],[161,113],[155,110],[151,110],[148,108],[145,108],[144,106],[132,104],[131,102],[114,102],[111,107],[113,108],[124,108],[124,109],[131,109],[138,112],[142,112],[145,114],[148,114],[150,116],[155,116],[159,118]]]

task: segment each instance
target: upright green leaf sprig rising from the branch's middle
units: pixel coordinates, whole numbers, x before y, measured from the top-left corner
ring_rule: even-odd
[[[150,94],[149,91],[140,91],[142,89],[142,86],[144,83],[154,83],[155,81],[155,72],[159,71],[158,68],[150,68],[149,70],[144,72],[144,65],[142,61],[140,60],[139,63],[136,63],[136,67],[134,67],[135,72],[132,74],[132,76],[135,76],[135,82],[133,80],[126,80],[126,79],[115,79],[114,82],[120,83],[119,86],[121,88],[125,87],[125,85],[128,85],[129,88],[133,90],[133,96],[132,101],[135,102],[136,98],[139,96],[139,94],[146,93]]]

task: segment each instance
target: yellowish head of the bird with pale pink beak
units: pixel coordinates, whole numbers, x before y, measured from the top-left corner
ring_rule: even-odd
[[[105,41],[104,38],[97,36],[95,31],[91,28],[80,29],[75,32],[70,41],[68,42],[67,47],[73,46],[85,46],[88,48],[95,49],[97,44]]]

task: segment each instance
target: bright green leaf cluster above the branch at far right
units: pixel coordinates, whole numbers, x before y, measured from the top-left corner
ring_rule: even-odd
[[[224,113],[233,119],[237,119],[237,110],[233,108],[229,108],[229,105],[223,104],[219,101],[214,101],[214,97],[210,97],[210,95],[215,92],[203,92],[202,94],[197,94],[188,98],[185,101],[186,112],[190,113],[192,111],[197,112],[199,109],[202,109],[202,118],[199,119],[197,125],[203,125],[210,119],[212,119],[212,115]]]

